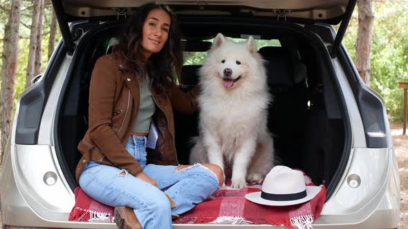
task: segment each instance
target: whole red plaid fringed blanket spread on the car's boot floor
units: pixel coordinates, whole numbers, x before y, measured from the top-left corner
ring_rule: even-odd
[[[314,186],[305,176],[308,186]],[[292,228],[311,228],[313,221],[319,217],[326,200],[326,188],[306,203],[295,206],[263,206],[245,199],[250,192],[259,192],[261,185],[250,185],[241,190],[227,186],[214,192],[209,199],[199,203],[192,210],[180,215],[174,223],[228,223],[228,224],[270,224]],[[88,197],[81,188],[75,189],[75,206],[68,220],[113,221],[113,208]]]

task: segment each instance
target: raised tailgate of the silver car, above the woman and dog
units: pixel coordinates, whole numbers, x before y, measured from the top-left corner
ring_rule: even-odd
[[[62,37],[68,54],[72,54],[75,45],[71,36],[68,23],[81,20],[106,20],[119,19],[132,14],[143,3],[149,0],[120,0],[120,1],[92,1],[92,0],[53,0],[53,8],[61,29]],[[344,32],[349,24],[351,14],[357,0],[335,1],[279,1],[279,0],[253,0],[253,1],[180,1],[167,0],[165,3],[178,15],[212,15],[212,16],[239,16],[239,17],[266,17],[290,22],[340,24],[331,56],[335,57]]]

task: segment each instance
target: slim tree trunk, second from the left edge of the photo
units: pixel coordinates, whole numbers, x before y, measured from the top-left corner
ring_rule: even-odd
[[[31,22],[30,45],[28,46],[28,63],[26,74],[26,88],[31,85],[31,79],[35,76],[35,50],[37,50],[37,32],[39,26],[40,1],[33,0],[33,21]]]

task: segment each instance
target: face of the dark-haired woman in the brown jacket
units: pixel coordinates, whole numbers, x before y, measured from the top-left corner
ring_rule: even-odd
[[[154,9],[147,14],[140,43],[145,59],[162,50],[169,37],[170,26],[171,18],[165,10]]]

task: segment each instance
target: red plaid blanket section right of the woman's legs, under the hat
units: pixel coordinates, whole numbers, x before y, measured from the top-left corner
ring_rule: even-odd
[[[305,178],[308,179],[306,176]],[[306,184],[314,186],[308,180]],[[263,206],[245,199],[247,193],[259,192],[260,185],[250,185],[241,190],[229,188],[229,185],[230,181],[226,188],[217,190],[210,199],[181,215],[175,223],[248,223],[311,228],[326,200],[326,188],[322,186],[317,196],[306,203],[295,206]]]

